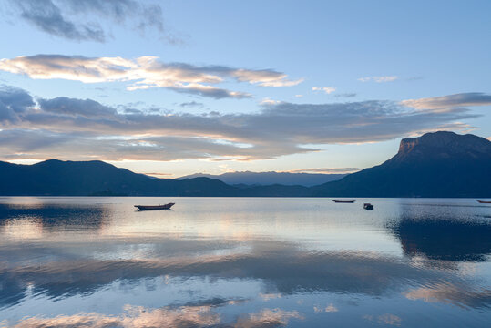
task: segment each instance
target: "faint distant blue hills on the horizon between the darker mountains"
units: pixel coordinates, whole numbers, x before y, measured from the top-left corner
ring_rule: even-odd
[[[220,175],[195,173],[178,179],[192,179],[205,177],[219,179],[230,185],[254,185],[267,186],[281,184],[285,186],[312,187],[325,182],[342,179],[346,174],[312,174],[312,173],[288,173],[288,172],[229,172]]]

